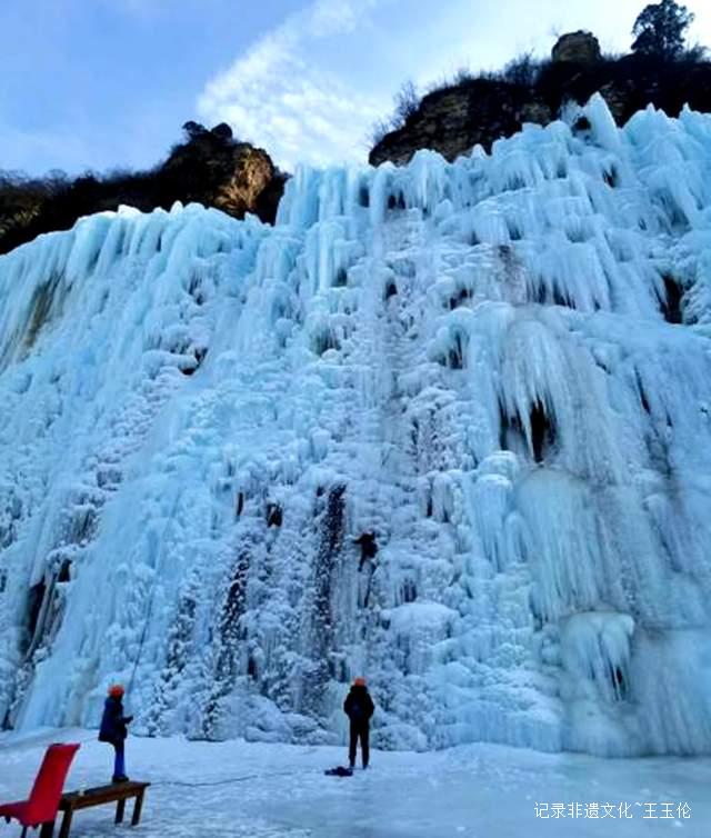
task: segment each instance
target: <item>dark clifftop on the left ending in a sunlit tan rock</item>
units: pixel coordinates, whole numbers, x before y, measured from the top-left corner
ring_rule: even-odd
[[[212,131],[188,122],[188,139],[150,171],[88,174],[73,181],[6,180],[0,184],[0,253],[42,232],[70,229],[78,218],[121,204],[149,212],[176,201],[217,207],[233,218],[248,212],[273,223],[286,176],[260,148],[232,139],[229,126]]]

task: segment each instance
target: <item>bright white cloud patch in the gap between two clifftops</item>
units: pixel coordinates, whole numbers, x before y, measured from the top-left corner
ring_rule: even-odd
[[[363,27],[378,2],[319,0],[291,16],[208,83],[198,102],[201,119],[229,122],[287,169],[297,161],[363,159],[365,128],[389,96],[359,90],[319,53]]]

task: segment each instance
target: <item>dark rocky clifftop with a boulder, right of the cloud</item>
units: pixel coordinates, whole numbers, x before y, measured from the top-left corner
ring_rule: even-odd
[[[478,143],[490,150],[495,140],[510,137],[524,122],[548,124],[567,101],[583,104],[598,91],[618,124],[650,103],[671,117],[684,104],[709,111],[711,62],[599,58],[597,39],[574,32],[560,39],[553,60],[532,81],[468,79],[429,93],[402,128],[375,144],[369,161],[402,166],[422,148],[434,149],[450,161]]]

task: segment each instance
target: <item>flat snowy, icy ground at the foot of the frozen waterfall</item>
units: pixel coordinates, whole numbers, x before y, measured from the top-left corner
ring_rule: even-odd
[[[110,751],[94,737],[87,730],[0,735],[0,800],[26,794],[44,745],[56,739],[82,742],[69,787],[103,781]],[[137,838],[701,838],[711,825],[711,759],[604,760],[470,745],[377,751],[368,772],[323,776],[343,756],[332,747],[133,738],[129,772],[153,784]],[[554,804],[580,804],[581,816],[537,818],[537,804],[547,804],[549,815]],[[584,817],[592,804],[597,819]],[[620,818],[624,804],[629,818]],[[612,805],[614,824],[602,817],[610,812],[604,805]],[[0,835],[10,834],[0,826]],[[74,838],[119,834],[107,808],[81,812],[72,828]]]

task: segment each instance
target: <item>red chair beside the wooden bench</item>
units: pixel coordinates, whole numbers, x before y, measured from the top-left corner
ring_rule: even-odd
[[[40,824],[47,825],[42,829],[42,835],[51,836],[69,766],[78,750],[79,745],[50,745],[34,778],[29,799],[0,806],[0,817],[8,824],[14,818],[24,827],[23,838],[28,827],[34,829]]]

